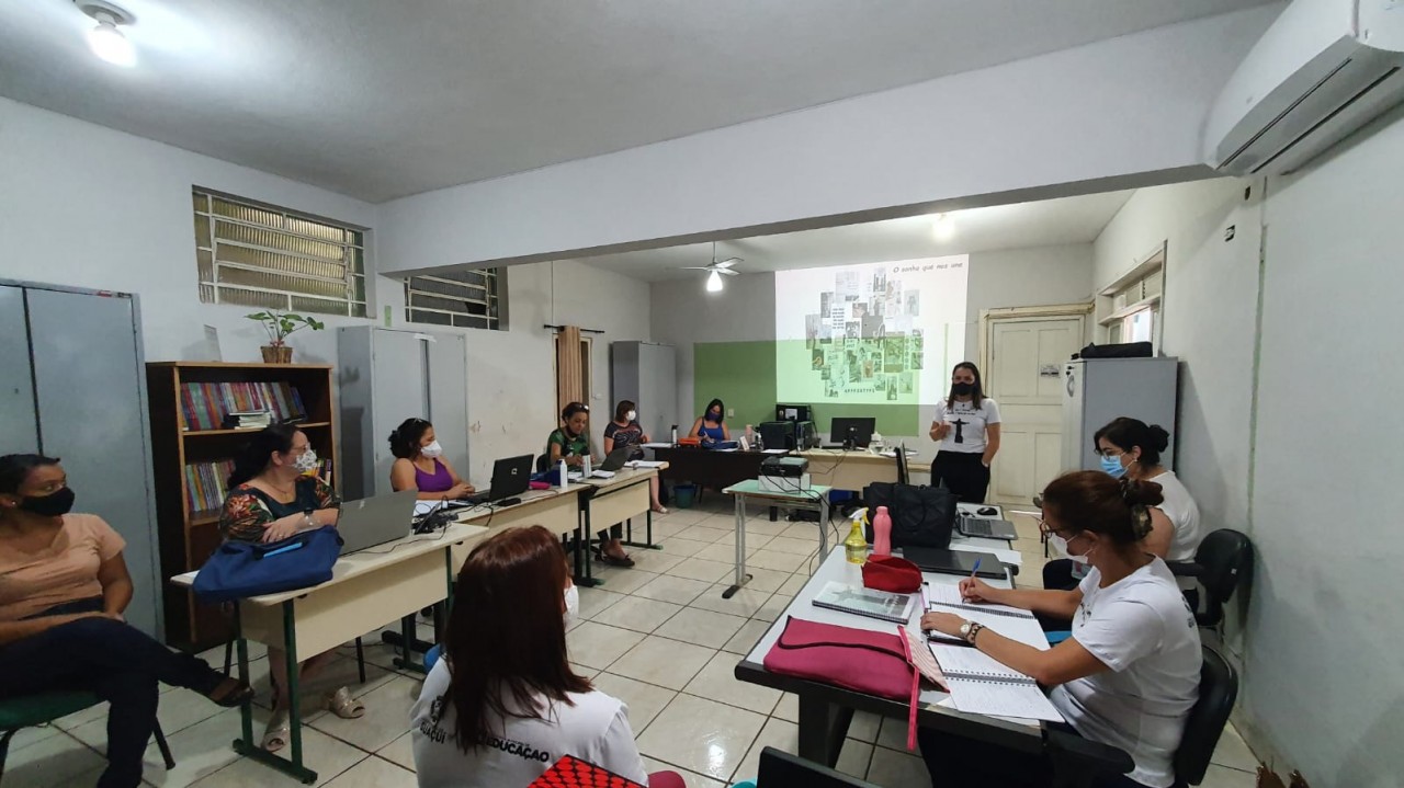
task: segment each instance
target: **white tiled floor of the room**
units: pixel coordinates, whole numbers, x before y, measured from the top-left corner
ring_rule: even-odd
[[[1043,552],[1033,519],[1014,517],[1024,552],[1021,579],[1039,585]],[[640,534],[642,536],[642,534]],[[847,531],[835,520],[830,544]],[[753,580],[722,599],[734,555],[733,516],[727,499],[709,495],[696,509],[674,510],[654,524],[661,551],[636,550],[633,569],[601,569],[605,583],[581,589],[581,621],[570,631],[570,658],[595,684],[629,705],[629,719],[650,770],[673,768],[691,788],[730,785],[755,775],[760,750],[793,752],[797,704],[793,695],[744,684],[731,677],[740,655],[781,614],[804,583],[819,545],[813,523],[771,523],[755,512],[747,526]],[[425,632],[427,635],[427,632]],[[303,718],[307,763],[319,785],[334,788],[414,785],[409,745],[409,708],[418,680],[393,669],[393,653],[366,639],[368,684],[362,719],[340,719],[316,709]],[[254,646],[260,700],[267,702],[268,665]],[[323,688],[355,681],[351,649],[319,679]],[[219,653],[206,655],[212,662]],[[257,709],[257,732],[267,711]],[[27,729],[11,745],[4,788],[93,785],[102,770],[105,709],[88,709],[55,726]],[[161,697],[161,725],[177,766],[166,771],[154,745],[147,750],[152,785],[202,788],[298,785],[264,766],[237,757],[229,743],[239,735],[237,709],[220,709],[185,690]],[[929,785],[921,760],[903,749],[896,719],[854,716],[838,768],[878,785]],[[1237,732],[1228,729],[1203,785],[1247,788],[1257,761]]]

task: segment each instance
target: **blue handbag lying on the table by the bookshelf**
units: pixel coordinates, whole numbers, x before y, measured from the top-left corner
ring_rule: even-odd
[[[330,580],[340,555],[336,526],[267,544],[226,541],[199,568],[191,590],[201,602],[213,603],[305,589]]]

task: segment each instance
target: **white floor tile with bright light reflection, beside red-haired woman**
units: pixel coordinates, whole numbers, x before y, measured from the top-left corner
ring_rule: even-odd
[[[724,781],[741,764],[764,725],[760,714],[684,694],[639,736],[639,750]]]

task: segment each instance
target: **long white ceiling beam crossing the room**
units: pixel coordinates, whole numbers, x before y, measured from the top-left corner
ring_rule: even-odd
[[[754,236],[821,216],[931,212],[970,195],[1198,167],[1209,102],[1280,7],[393,201],[383,205],[385,271]]]

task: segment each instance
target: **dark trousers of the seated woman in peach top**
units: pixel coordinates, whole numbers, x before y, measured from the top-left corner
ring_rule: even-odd
[[[97,599],[44,614],[101,609]],[[107,770],[98,788],[140,785],[142,754],[156,725],[157,683],[209,694],[222,680],[204,659],[173,652],[111,618],[80,618],[0,646],[0,698],[80,690],[111,704]]]

